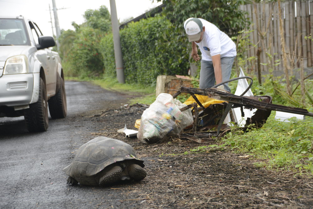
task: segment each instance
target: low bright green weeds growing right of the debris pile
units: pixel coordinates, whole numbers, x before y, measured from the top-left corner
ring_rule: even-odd
[[[262,128],[242,134],[236,127],[223,138],[225,147],[251,153],[266,163],[256,166],[313,174],[313,120],[290,119],[290,123],[270,117]]]

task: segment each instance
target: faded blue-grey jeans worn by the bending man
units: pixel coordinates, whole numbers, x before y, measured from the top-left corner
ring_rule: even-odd
[[[222,79],[227,81],[230,78],[233,61],[235,57],[221,57]],[[199,88],[211,88],[215,85],[215,74],[212,61],[201,60]],[[228,83],[224,84],[224,89],[230,92]]]

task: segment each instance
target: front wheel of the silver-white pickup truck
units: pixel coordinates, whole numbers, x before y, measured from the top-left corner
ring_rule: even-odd
[[[49,127],[47,90],[42,78],[39,80],[38,101],[24,110],[24,118],[29,132],[46,131]]]

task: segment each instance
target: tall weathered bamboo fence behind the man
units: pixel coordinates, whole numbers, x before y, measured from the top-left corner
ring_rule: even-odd
[[[313,66],[313,42],[305,40],[305,36],[313,36],[313,0],[282,1],[242,5],[241,10],[247,12],[246,18],[251,21],[249,39],[252,47],[245,51],[245,56],[257,58],[259,55],[261,71],[282,70],[282,55],[286,53],[288,66],[299,68]],[[279,12],[280,10],[280,12]],[[280,17],[284,29],[284,38],[280,37]],[[281,40],[285,41],[285,52],[282,51]],[[256,71],[256,59],[248,61],[247,69]],[[280,63],[280,64],[278,64]]]

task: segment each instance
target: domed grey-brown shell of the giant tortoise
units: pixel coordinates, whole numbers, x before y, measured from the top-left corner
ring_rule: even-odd
[[[118,161],[134,160],[143,168],[145,166],[143,161],[136,157],[131,145],[117,139],[99,136],[83,144],[78,149],[73,162],[63,171],[79,181],[80,178],[96,175],[106,166]]]

